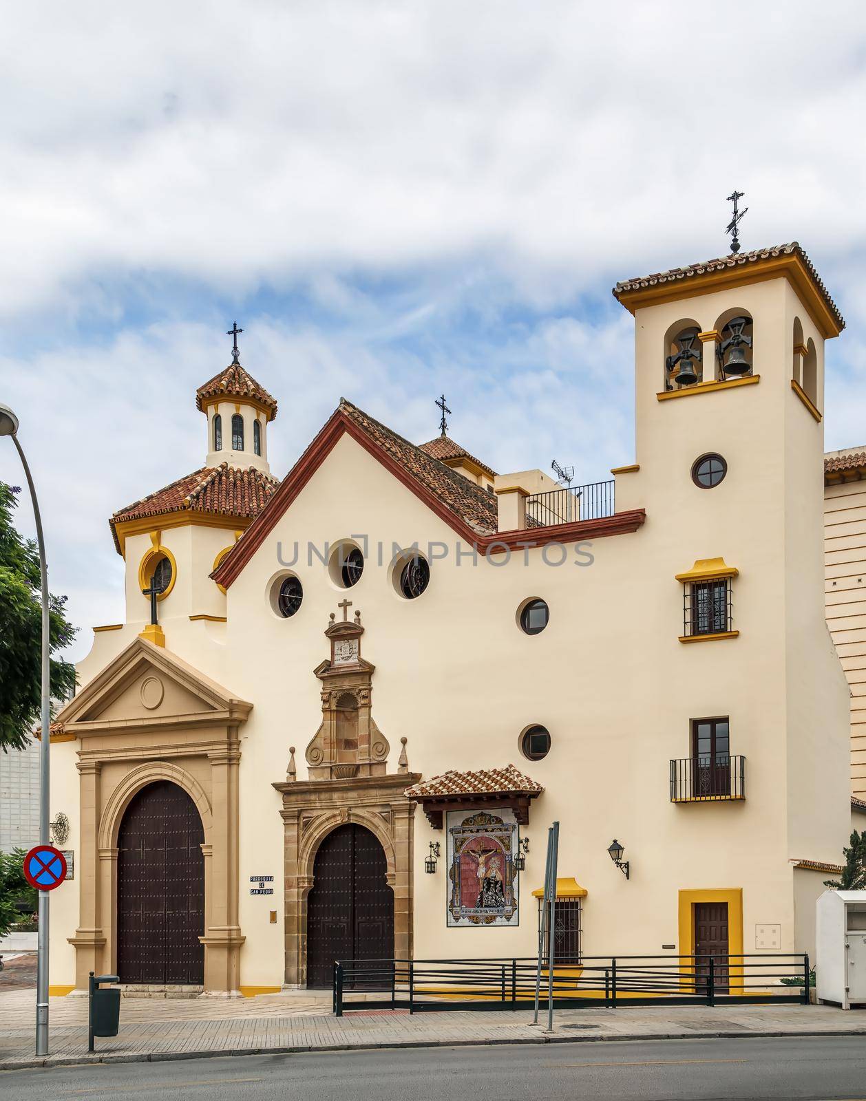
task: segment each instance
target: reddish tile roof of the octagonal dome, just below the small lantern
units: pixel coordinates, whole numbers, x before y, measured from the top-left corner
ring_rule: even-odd
[[[165,512],[208,512],[253,520],[279,484],[277,478],[256,467],[240,469],[227,462],[218,467],[203,467],[116,512],[109,521],[115,544],[119,549],[117,524]]]

